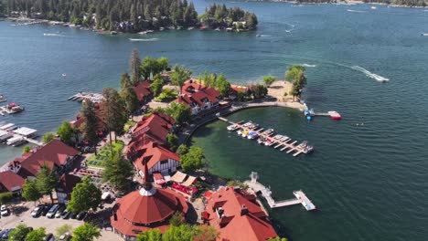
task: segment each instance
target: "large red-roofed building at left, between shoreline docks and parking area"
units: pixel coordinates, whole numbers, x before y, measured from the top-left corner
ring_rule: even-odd
[[[27,178],[36,176],[41,166],[48,166],[56,173],[68,170],[79,152],[58,139],[49,141],[44,146],[34,149],[32,153],[23,155],[10,162],[9,170]]]

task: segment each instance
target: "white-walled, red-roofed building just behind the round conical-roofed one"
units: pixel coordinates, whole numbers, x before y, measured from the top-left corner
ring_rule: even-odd
[[[176,152],[172,152],[154,141],[150,141],[140,150],[134,152],[132,160],[141,176],[144,176],[144,163],[147,163],[150,174],[155,172],[174,173],[180,166],[180,157]]]

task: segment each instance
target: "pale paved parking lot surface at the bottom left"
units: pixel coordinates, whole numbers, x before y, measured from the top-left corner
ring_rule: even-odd
[[[23,204],[20,206],[23,212],[16,212],[16,215],[2,216],[0,218],[0,228],[13,228],[19,224],[25,224],[33,228],[45,227],[46,233],[56,234],[56,230],[60,225],[71,225],[73,228],[76,228],[79,225],[83,224],[83,221],[76,219],[62,219],[62,218],[48,218],[46,216],[32,217],[30,214],[35,208],[34,204]],[[120,236],[117,236],[112,232],[111,228],[107,230],[102,229],[102,236],[97,240],[122,240]]]

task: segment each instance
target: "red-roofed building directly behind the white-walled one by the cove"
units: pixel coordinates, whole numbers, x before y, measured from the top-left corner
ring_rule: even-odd
[[[155,112],[150,116],[144,116],[133,131],[132,141],[128,144],[127,154],[140,150],[146,143],[156,141],[166,143],[166,136],[174,128],[175,121],[168,115]]]

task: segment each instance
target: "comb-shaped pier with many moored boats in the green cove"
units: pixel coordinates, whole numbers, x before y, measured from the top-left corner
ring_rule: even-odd
[[[273,149],[279,149],[280,152],[284,152],[285,150],[288,149],[288,151],[286,151],[286,153],[293,153],[293,156],[298,156],[301,153],[308,153],[308,152],[312,152],[313,151],[313,147],[309,147],[306,144],[306,141],[297,144],[298,141],[293,141],[291,138],[286,138],[284,139],[275,139],[273,138],[273,133],[263,133],[263,131],[265,129],[261,128],[261,127],[254,127],[254,128],[249,128],[244,126],[244,121],[239,121],[239,122],[233,122],[233,121],[229,121],[228,119],[224,118],[224,117],[219,117],[220,121],[225,121],[230,123],[231,125],[235,126],[236,128],[234,128],[233,130],[230,131],[237,131],[237,130],[242,130],[242,131],[254,131],[257,133],[258,138],[264,138],[264,139],[269,139],[271,140],[271,143],[268,146],[273,146]],[[292,142],[290,142],[292,141]],[[267,145],[267,144],[265,144]]]

